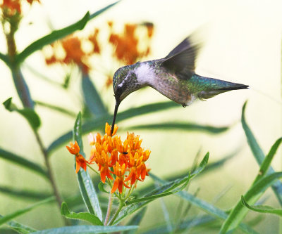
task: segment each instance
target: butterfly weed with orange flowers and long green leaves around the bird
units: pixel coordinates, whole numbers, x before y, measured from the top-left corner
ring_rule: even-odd
[[[266,189],[271,188],[278,204],[280,206],[282,204],[282,172],[276,172],[271,167],[271,161],[276,155],[279,145],[281,145],[282,138],[279,138],[272,145],[269,153],[264,155],[245,119],[246,103],[243,106],[241,122],[247,143],[259,164],[259,171],[250,188],[245,191],[244,195],[238,196],[238,202],[231,204],[230,209],[226,211],[202,200],[197,197],[197,194],[187,192],[185,188],[188,188],[188,184],[195,176],[204,176],[212,169],[221,167],[231,157],[208,164],[209,152],[207,152],[198,166],[178,175],[169,176],[165,179],[159,178],[154,174],[154,171],[157,170],[149,167],[150,158],[156,157],[157,152],[151,152],[148,145],[142,145],[142,138],[137,133],[128,132],[123,138],[118,135],[116,124],[111,129],[111,126],[107,123],[112,114],[108,112],[108,108],[104,104],[101,91],[97,91],[92,79],[90,79],[90,70],[96,69],[90,58],[97,56],[98,60],[102,61],[102,51],[106,46],[109,46],[111,48],[107,50],[111,51],[109,57],[117,67],[136,63],[137,60],[148,56],[150,53],[154,25],[151,22],[128,23],[124,25],[122,32],[115,32],[115,23],[109,20],[105,22],[106,27],[93,29],[93,33],[88,36],[80,37],[74,34],[78,30],[83,30],[87,22],[116,5],[114,3],[95,13],[85,13],[85,16],[78,22],[50,32],[19,52],[15,34],[24,17],[22,8],[23,5],[32,7],[34,4],[42,3],[39,0],[1,1],[1,23],[6,38],[7,51],[0,53],[0,59],[11,70],[11,79],[13,79],[13,84],[18,93],[18,97],[6,97],[3,100],[4,108],[9,112],[17,112],[27,120],[42,152],[44,166],[27,160],[22,155],[16,155],[16,153],[2,148],[2,146],[0,146],[0,157],[7,160],[8,163],[18,164],[23,169],[46,178],[49,181],[52,193],[42,195],[40,191],[30,193],[29,191],[16,190],[12,187],[0,185],[0,193],[13,195],[19,199],[40,200],[29,207],[18,209],[10,214],[0,214],[1,230],[10,232],[13,229],[17,233],[187,233],[188,230],[205,232],[211,229],[219,233],[231,233],[237,230],[243,233],[257,233],[252,223],[247,223],[244,219],[248,212],[282,216],[281,207],[269,207],[261,202],[257,203]],[[105,29],[109,36],[106,43],[99,40],[99,33]],[[137,31],[142,32],[142,36],[137,34]],[[140,45],[141,42],[142,45]],[[85,43],[90,44],[90,48],[83,49],[82,45]],[[64,51],[63,56],[58,56],[56,52],[58,49]],[[71,67],[70,69],[73,69],[74,66],[78,67],[81,72],[82,105],[84,106],[82,113],[76,115],[66,108],[32,99],[30,87],[25,82],[22,73],[22,66],[28,56],[39,50],[42,50],[47,65],[60,64],[64,67]],[[48,54],[48,50],[51,53]],[[103,73],[105,87],[111,86],[111,72],[114,68],[112,67]],[[38,73],[35,70],[33,72]],[[52,81],[49,80],[49,82]],[[71,82],[71,76],[67,75],[62,84],[58,82],[57,84],[61,86],[61,89],[68,89]],[[19,98],[20,107],[13,103],[13,98]],[[41,120],[40,113],[37,112],[38,105],[59,112],[61,115],[76,117],[72,130],[55,139],[48,147],[44,145],[42,136],[39,134]],[[143,105],[120,112],[118,120],[130,119],[175,107],[176,105],[172,102]],[[97,132],[97,129],[102,128],[104,128],[103,133]],[[164,122],[136,126],[136,129],[142,128],[184,129],[187,131],[206,131],[212,134],[219,134],[228,130],[228,126],[203,126],[187,122]],[[91,131],[94,131],[95,134],[91,134]],[[82,143],[82,136],[85,134],[88,134],[88,141],[91,146],[90,152],[86,154]],[[77,176],[80,190],[77,193],[74,191],[74,197],[62,194],[54,177],[54,168],[50,164],[51,153],[63,148],[63,145],[66,145],[68,152],[73,155],[75,161],[73,173]],[[177,155],[173,157],[177,157]],[[72,160],[71,157],[69,157],[69,160]],[[161,163],[166,162],[161,161]],[[94,176],[92,176],[93,174]],[[150,180],[154,181],[154,184],[150,183]],[[73,183],[76,182],[73,181]],[[105,196],[107,201],[104,200]],[[167,196],[178,196],[181,200],[180,204],[183,209],[178,209],[176,220],[171,219],[161,198]],[[148,204],[154,200],[161,201],[166,219],[164,223],[156,223],[154,227],[144,226],[141,221],[146,216]],[[61,227],[58,228],[52,226],[52,223],[45,223],[44,226],[50,229],[37,230],[16,221],[18,216],[28,215],[28,212],[39,205],[51,205],[51,203],[56,203],[61,211],[61,219],[64,223]],[[196,207],[203,213],[195,215],[191,212],[191,207]],[[179,212],[179,210],[182,210],[182,212]],[[37,221],[42,222],[42,216],[44,214],[40,214]],[[142,228],[139,228],[140,226]]]

